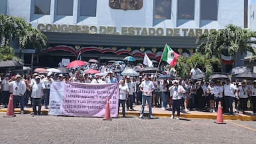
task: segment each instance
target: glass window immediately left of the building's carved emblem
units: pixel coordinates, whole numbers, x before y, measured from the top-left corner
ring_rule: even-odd
[[[97,0],[81,0],[80,15],[96,17]]]

